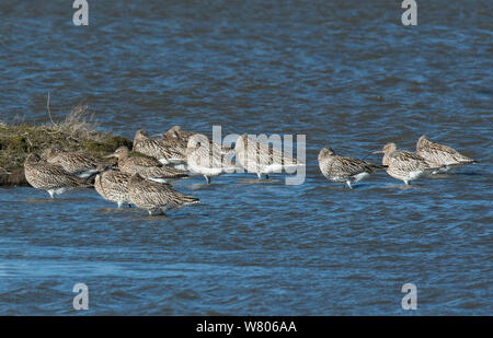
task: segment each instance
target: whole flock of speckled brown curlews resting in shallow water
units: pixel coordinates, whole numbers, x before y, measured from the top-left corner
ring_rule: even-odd
[[[174,126],[161,139],[151,139],[145,130],[138,130],[134,139],[134,153],[119,147],[104,158],[116,158],[115,164],[93,159],[78,152],[64,152],[56,148],[45,150],[39,156],[30,154],[24,163],[27,182],[46,190],[51,198],[68,189],[94,187],[106,200],[122,205],[135,205],[149,214],[165,212],[172,208],[198,203],[198,199],[176,191],[170,182],[203,175],[207,184],[211,176],[244,168],[262,175],[282,170],[305,166],[305,163],[286,153],[242,135],[234,148],[225,148],[205,135],[185,131]],[[423,175],[437,174],[449,168],[474,163],[450,147],[429,141],[422,136],[416,152],[398,150],[395,143],[387,143],[381,151],[382,165],[336,154],[330,147],[319,153],[319,167],[326,179],[352,184],[372,174],[376,170],[387,173],[406,185]],[[236,158],[234,163],[232,158]],[[92,182],[93,179],[93,182]]]

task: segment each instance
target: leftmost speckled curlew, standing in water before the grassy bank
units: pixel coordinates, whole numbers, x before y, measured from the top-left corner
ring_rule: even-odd
[[[25,160],[24,173],[31,186],[47,191],[51,198],[68,189],[91,187],[84,179],[68,173],[61,166],[47,163],[35,154],[30,154]]]

